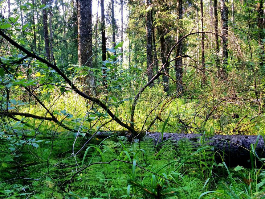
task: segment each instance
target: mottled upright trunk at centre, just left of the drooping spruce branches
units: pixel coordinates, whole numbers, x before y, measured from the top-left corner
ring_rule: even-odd
[[[153,78],[153,54],[152,54],[152,13],[151,13],[151,0],[145,1],[146,6],[146,58],[147,58],[147,77],[148,81]],[[152,87],[153,83],[149,85]]]

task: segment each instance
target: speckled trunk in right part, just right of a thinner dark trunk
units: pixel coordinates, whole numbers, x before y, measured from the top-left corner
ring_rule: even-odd
[[[222,64],[223,68],[228,64],[228,51],[227,51],[227,38],[228,38],[228,18],[227,18],[227,7],[226,7],[227,0],[221,0],[220,6],[221,6],[221,56],[222,56]],[[222,73],[225,73],[223,71]]]

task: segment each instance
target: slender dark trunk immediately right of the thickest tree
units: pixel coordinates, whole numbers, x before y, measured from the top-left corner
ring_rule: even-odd
[[[106,61],[106,32],[105,32],[105,10],[104,10],[104,0],[100,0],[101,7],[101,50],[102,50],[102,62]],[[102,64],[104,68],[104,64]],[[107,74],[106,69],[102,69],[103,73],[103,86],[107,85]]]

